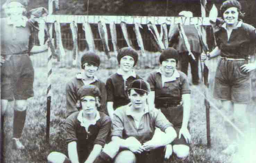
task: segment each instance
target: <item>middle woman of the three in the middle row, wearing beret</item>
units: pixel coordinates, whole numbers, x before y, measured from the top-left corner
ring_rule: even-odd
[[[117,61],[120,68],[116,73],[110,75],[106,81],[106,101],[111,119],[116,108],[127,105],[130,102],[127,94],[130,83],[136,79],[142,79],[133,70],[138,61],[138,53],[133,48],[121,48],[117,55]]]

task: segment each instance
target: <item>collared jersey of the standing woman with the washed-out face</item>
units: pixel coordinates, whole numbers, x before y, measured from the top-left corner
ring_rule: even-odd
[[[15,27],[9,19],[1,18],[1,55],[28,53],[33,47],[32,27],[27,21],[25,27]]]

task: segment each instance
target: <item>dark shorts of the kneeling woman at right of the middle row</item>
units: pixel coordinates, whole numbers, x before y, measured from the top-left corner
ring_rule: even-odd
[[[181,136],[178,138],[179,131],[182,125],[183,119],[183,105],[179,105],[177,107],[167,107],[167,108],[158,108],[164,114],[164,116],[173,124],[174,129],[177,133],[177,138],[171,143],[172,145],[187,145],[189,144],[186,142],[186,139]]]

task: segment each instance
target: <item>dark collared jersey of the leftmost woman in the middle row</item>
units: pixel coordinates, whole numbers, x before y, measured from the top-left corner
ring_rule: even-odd
[[[99,80],[98,78],[96,78],[96,76],[94,77],[94,79],[90,82],[87,82],[84,80],[83,78],[83,73],[79,72],[75,78],[73,78],[72,80],[70,80],[67,84],[66,84],[66,102],[67,102],[67,112],[66,112],[66,117],[68,117],[69,115],[71,115],[73,112],[77,111],[77,97],[78,97],[78,90],[79,88],[81,88],[83,85],[85,84],[92,84],[92,85],[96,85],[101,92],[101,106],[100,106],[100,110],[101,112],[107,113],[106,111],[106,88],[105,88],[105,83],[103,83],[101,80]],[[79,108],[81,109],[81,108]]]

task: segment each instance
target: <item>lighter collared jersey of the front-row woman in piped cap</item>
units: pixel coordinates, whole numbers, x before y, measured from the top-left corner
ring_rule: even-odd
[[[155,127],[164,132],[165,129],[173,126],[159,109],[149,109],[147,106],[137,127],[133,116],[130,114],[130,107],[131,105],[125,105],[114,111],[111,136],[118,136],[123,139],[133,136],[143,144],[152,139]]]

